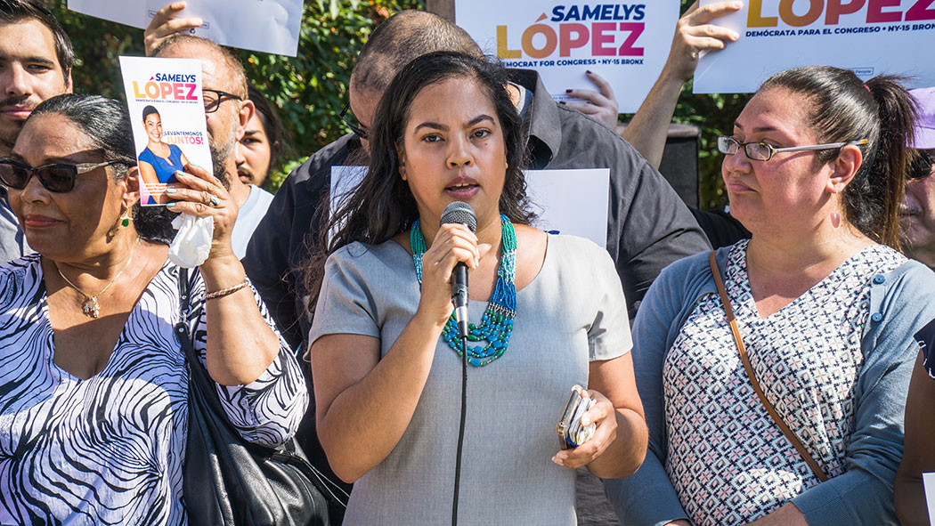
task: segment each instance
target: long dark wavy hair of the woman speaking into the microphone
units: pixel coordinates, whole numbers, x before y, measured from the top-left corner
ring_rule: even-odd
[[[309,310],[313,310],[324,277],[324,260],[336,250],[360,241],[379,245],[405,232],[419,210],[409,184],[399,177],[397,145],[403,140],[410,107],[424,88],[449,78],[473,81],[496,109],[503,132],[507,173],[500,193],[499,209],[513,222],[529,224],[534,215],[527,209],[525,192],[525,145],[521,119],[506,90],[506,70],[498,63],[454,51],[437,51],[407,64],[383,93],[368,135],[370,164],[357,189],[334,210],[328,227],[322,229],[320,246],[305,267]],[[439,101],[439,104],[445,104]],[[328,239],[329,233],[335,235]]]

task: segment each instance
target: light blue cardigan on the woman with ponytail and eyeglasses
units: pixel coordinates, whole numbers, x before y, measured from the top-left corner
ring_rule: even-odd
[[[719,249],[722,277],[728,248]],[[650,444],[640,470],[604,481],[604,490],[626,526],[661,525],[686,519],[666,474],[667,434],[662,364],[688,315],[705,294],[717,293],[709,252],[670,264],[656,278],[633,326],[633,365]],[[845,473],[805,490],[793,503],[811,526],[898,525],[893,477],[902,457],[902,417],[909,377],[919,353],[913,334],[935,319],[935,273],[909,261],[874,279],[870,316],[861,348],[854,430]]]

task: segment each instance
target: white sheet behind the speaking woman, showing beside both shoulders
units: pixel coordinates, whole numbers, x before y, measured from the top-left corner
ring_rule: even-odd
[[[367,166],[332,166],[332,211],[365,175]],[[610,169],[526,170],[525,177],[526,192],[539,216],[533,226],[553,234],[586,237],[607,248]]]

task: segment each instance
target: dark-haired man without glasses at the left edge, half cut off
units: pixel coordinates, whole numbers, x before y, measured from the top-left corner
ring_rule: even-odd
[[[0,2],[0,158],[42,101],[70,93],[75,54],[50,10],[35,0]],[[0,263],[32,252],[0,185]]]

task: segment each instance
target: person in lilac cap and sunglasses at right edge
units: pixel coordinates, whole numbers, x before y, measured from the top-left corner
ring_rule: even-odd
[[[906,174],[899,209],[906,255],[935,270],[935,88],[911,90],[918,120],[913,148],[918,153]]]

